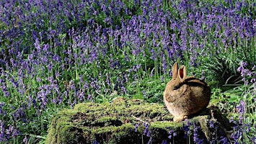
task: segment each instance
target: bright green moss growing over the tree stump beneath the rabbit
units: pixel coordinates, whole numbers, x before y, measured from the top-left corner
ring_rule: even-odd
[[[208,130],[206,127],[209,117],[199,116],[190,121],[201,125],[203,130]],[[175,143],[186,143],[183,140],[183,124],[172,122],[172,116],[164,105],[123,98],[105,104],[76,104],[74,109],[59,112],[53,117],[45,143],[92,143],[94,140],[99,143],[122,144],[147,142],[149,137],[143,134],[148,131],[144,133],[142,121],[150,123],[152,143],[162,143],[162,140],[172,142],[168,139],[169,130],[179,135],[179,138],[175,138]],[[135,132],[135,125],[138,123],[141,125]]]

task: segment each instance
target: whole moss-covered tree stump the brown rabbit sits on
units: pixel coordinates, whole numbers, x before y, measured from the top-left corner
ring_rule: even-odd
[[[185,122],[172,122],[172,118],[163,104],[139,99],[76,104],[53,117],[45,143],[198,143],[220,140],[230,128],[214,107]]]

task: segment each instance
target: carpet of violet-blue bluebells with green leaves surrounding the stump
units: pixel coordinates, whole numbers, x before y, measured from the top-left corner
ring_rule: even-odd
[[[53,115],[80,102],[162,103],[175,61],[234,124],[211,143],[256,143],[255,11],[250,0],[1,0],[0,143],[43,143]]]

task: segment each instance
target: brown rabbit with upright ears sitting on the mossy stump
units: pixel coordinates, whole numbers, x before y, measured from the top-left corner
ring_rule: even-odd
[[[174,122],[181,122],[192,114],[207,107],[211,89],[206,82],[193,76],[187,77],[185,66],[172,66],[172,80],[164,90],[164,104],[174,116]]]

